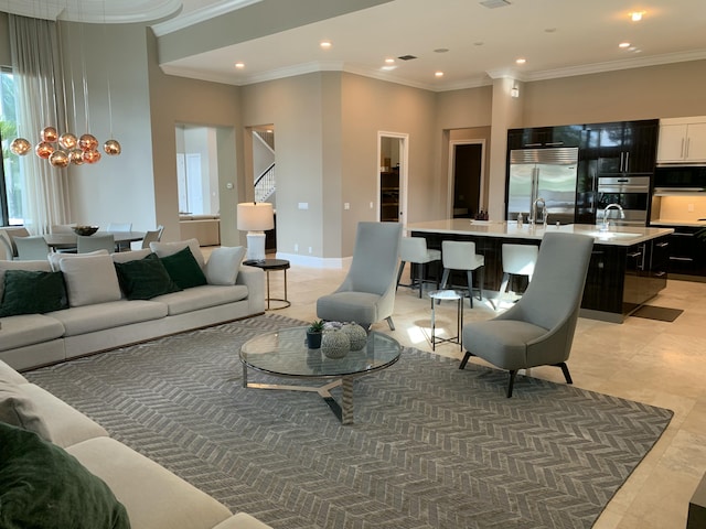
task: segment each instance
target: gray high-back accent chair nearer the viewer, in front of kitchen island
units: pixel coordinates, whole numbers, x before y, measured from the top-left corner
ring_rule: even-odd
[[[571,384],[566,360],[574,342],[592,247],[592,237],[546,234],[532,282],[520,301],[492,320],[463,326],[467,353],[459,369],[466,367],[471,356],[507,369],[509,398],[518,369],[557,366],[566,382]]]

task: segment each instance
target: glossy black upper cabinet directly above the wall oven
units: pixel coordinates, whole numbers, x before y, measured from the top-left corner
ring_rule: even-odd
[[[598,174],[652,174],[659,127],[656,119],[591,126],[598,130]]]

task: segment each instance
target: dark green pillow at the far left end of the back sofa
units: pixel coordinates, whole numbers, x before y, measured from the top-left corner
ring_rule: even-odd
[[[0,317],[43,314],[62,309],[68,309],[62,272],[6,270]]]

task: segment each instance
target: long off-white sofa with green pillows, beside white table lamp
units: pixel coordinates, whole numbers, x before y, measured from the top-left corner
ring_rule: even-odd
[[[147,276],[142,284],[137,284],[132,290],[135,295],[126,293],[124,278],[118,278],[119,271],[116,271],[116,268],[126,269],[126,263],[132,261],[143,262],[127,264],[128,269],[157,266],[152,262],[154,260],[160,263],[174,261],[181,266],[180,263],[186,262],[180,257],[184,252],[193,256],[191,262],[195,260],[197,263],[201,277],[205,278],[205,281],[201,282],[205,284],[189,284],[181,290],[149,299],[135,299],[149,295],[137,292],[142,287],[152,288],[159,284],[158,279]],[[73,256],[57,253],[50,256],[51,262],[0,261],[0,360],[18,370],[30,369],[159,336],[261,314],[265,311],[264,272],[258,268],[240,264],[243,253],[244,250],[239,247],[216,248],[206,261],[199,248],[199,241],[190,239],[179,242],[153,242],[151,249],[111,256],[107,252]],[[118,263],[117,267],[115,263]],[[40,292],[33,295],[32,284],[15,288],[15,283],[6,282],[8,271],[51,272],[52,266],[55,272],[61,271],[66,288],[67,300],[58,305],[62,307],[2,316],[3,307],[8,309],[8,290],[12,291],[15,298],[20,296],[23,300],[49,296],[51,292],[49,287],[38,287]],[[195,272],[193,269],[189,270]],[[181,273],[181,270],[178,272]],[[12,272],[10,276],[18,279],[20,274]],[[140,280],[139,274],[137,280],[132,277],[128,279],[132,283],[139,283]],[[186,282],[190,280],[188,277]],[[29,288],[30,293],[21,287]],[[22,310],[25,307],[20,309]]]

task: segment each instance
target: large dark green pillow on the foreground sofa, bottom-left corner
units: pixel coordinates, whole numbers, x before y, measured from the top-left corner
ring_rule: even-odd
[[[129,529],[125,506],[73,455],[0,422],[0,527]]]

